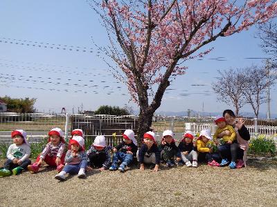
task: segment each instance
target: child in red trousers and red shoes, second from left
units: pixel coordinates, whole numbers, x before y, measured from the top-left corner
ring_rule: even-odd
[[[60,172],[64,167],[65,148],[64,132],[60,128],[53,128],[48,132],[48,144],[37,156],[35,163],[28,166],[28,170],[38,172],[42,162],[45,161],[48,166],[53,166]]]

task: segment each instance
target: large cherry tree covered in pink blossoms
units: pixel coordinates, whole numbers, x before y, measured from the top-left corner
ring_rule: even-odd
[[[91,6],[110,41],[100,49],[139,105],[139,137],[150,129],[170,77],[186,72],[186,60],[206,55],[212,48],[204,46],[217,38],[268,21],[277,10],[269,0],[92,0]]]

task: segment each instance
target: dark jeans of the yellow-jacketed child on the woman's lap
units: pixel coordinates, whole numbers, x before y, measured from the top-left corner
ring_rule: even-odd
[[[218,146],[218,151],[220,152],[222,159],[235,161],[238,157],[238,143],[222,144]]]

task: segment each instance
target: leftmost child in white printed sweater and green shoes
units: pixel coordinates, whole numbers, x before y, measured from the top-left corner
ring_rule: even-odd
[[[30,164],[30,144],[26,140],[27,133],[24,130],[14,130],[11,134],[13,144],[7,151],[7,160],[0,169],[0,176],[19,175]]]

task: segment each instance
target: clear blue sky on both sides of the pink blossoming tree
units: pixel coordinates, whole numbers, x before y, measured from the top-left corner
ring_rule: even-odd
[[[137,110],[129,102],[127,88],[117,82],[99,57],[93,41],[105,46],[108,39],[87,1],[2,0],[0,28],[0,96],[37,98],[35,107],[45,112],[60,112],[62,107],[76,112],[81,106],[83,110],[96,110],[101,105],[126,104]],[[217,70],[262,65],[260,59],[245,59],[267,57],[258,46],[260,40],[254,38],[255,32],[256,28],[251,28],[217,39],[208,46],[214,50],[204,60],[188,61],[186,75],[172,83],[173,90],[168,90],[157,111],[202,111],[203,102],[206,112],[233,108],[217,101],[211,82]],[[226,61],[209,59],[215,57]],[[206,86],[191,86],[194,84]],[[179,96],[187,92],[193,95]],[[276,86],[271,95],[271,112],[276,112]],[[252,110],[244,106],[242,111]],[[265,104],[260,112],[266,112]]]

